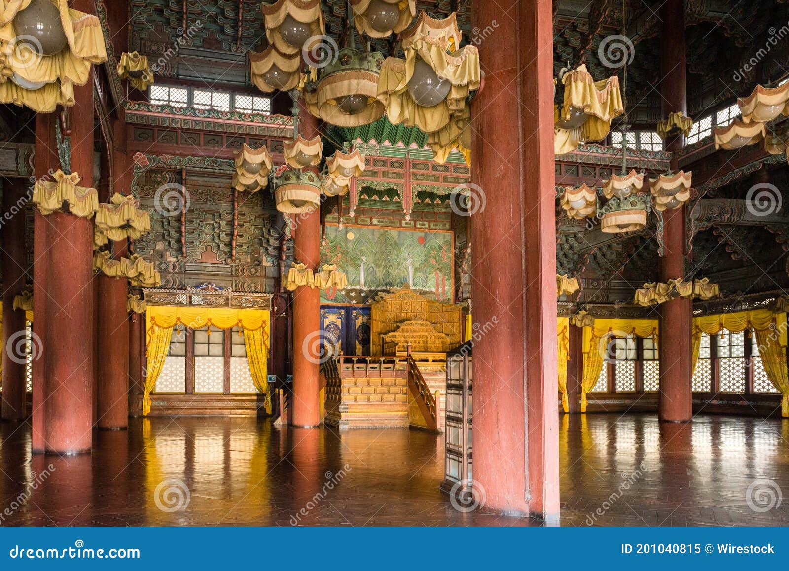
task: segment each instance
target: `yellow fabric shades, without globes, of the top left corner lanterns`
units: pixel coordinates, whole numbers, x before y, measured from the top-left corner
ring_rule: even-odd
[[[13,19],[27,9],[30,0],[0,1],[0,102],[16,103],[39,113],[50,113],[58,105],[74,104],[73,85],[88,82],[90,66],[107,61],[107,50],[99,18],[69,9],[67,0],[55,0],[67,47],[57,54],[39,54],[16,40]],[[32,84],[45,84],[28,90],[9,80],[14,75]]]

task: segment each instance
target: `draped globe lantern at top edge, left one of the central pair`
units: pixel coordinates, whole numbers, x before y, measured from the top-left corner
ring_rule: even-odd
[[[266,37],[282,54],[309,49],[308,40],[326,34],[320,0],[279,0],[263,5]]]

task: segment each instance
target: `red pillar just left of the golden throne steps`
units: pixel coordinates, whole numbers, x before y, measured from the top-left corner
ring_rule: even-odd
[[[318,120],[299,102],[299,133],[306,139],[319,135]],[[294,237],[294,259],[312,271],[320,263],[320,208],[309,214],[298,215]],[[293,424],[298,427],[315,427],[320,418],[320,384],[316,335],[320,330],[320,289],[300,286],[294,291],[294,395]]]

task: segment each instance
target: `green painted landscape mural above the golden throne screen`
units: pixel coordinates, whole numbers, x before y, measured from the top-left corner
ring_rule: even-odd
[[[379,291],[408,284],[451,303],[452,248],[451,232],[327,226],[321,261],[335,263],[345,271],[348,287],[343,292],[322,292],[322,300],[365,304]]]

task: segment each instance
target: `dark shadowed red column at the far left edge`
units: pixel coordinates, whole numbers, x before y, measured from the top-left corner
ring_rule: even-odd
[[[2,419],[22,420],[27,414],[24,390],[24,311],[14,311],[13,298],[22,293],[27,275],[24,252],[24,205],[27,178],[6,179],[2,193]],[[34,345],[34,351],[38,347]]]

